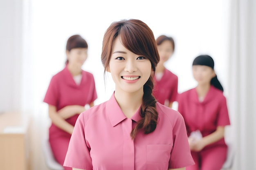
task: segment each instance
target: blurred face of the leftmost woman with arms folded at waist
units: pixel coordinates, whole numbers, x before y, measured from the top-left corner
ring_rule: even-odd
[[[88,57],[86,48],[75,48],[66,51],[68,64],[81,67]]]

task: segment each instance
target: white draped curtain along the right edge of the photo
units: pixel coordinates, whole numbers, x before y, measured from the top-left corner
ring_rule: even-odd
[[[256,1],[230,1],[228,104],[234,170],[256,170]],[[227,134],[227,135],[230,135]]]

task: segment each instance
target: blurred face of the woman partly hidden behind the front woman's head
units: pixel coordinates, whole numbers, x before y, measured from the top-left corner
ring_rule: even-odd
[[[173,44],[171,41],[165,40],[162,44],[157,45],[157,50],[160,57],[159,62],[164,63],[173,55]]]

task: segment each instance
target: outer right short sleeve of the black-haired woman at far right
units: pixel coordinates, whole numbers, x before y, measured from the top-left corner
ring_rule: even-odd
[[[226,100],[226,97],[223,97],[222,100],[220,101],[220,109],[219,109],[217,126],[226,126],[226,125],[230,125],[230,121],[229,121],[229,113],[227,109],[227,100]]]

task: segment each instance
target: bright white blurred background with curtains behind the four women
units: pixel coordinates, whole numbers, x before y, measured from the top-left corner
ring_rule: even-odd
[[[115,88],[110,75],[104,82],[103,34],[112,22],[129,18],[148,24],[155,38],[173,37],[175,52],[166,68],[178,76],[180,93],[196,85],[193,59],[213,57],[229,108],[233,170],[255,170],[255,0],[1,0],[0,113],[21,112],[31,120],[31,170],[47,170],[41,141],[50,121],[43,98],[52,76],[65,66],[67,39],[80,34],[88,42],[83,69],[94,75],[100,104]]]

